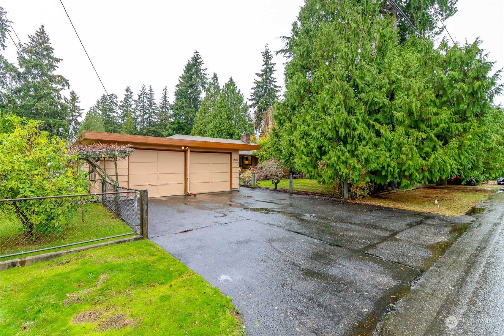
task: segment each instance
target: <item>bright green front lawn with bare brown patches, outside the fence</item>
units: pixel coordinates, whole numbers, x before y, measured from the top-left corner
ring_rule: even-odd
[[[229,297],[150,241],[0,273],[2,335],[240,335]]]

